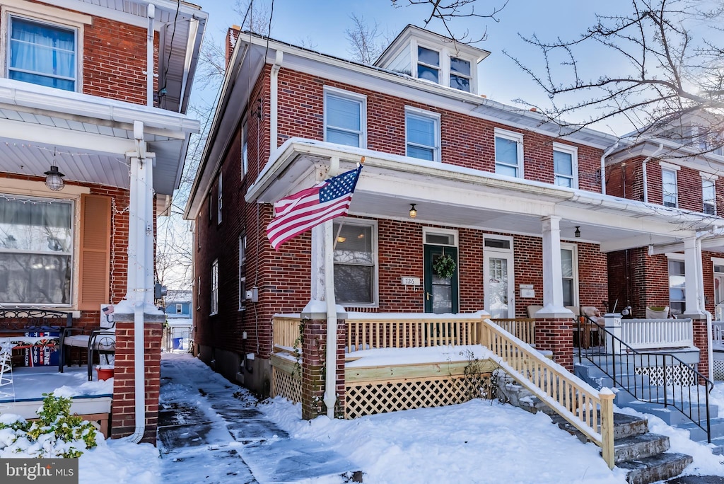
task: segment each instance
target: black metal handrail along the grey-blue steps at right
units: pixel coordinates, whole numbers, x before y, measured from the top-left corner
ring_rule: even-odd
[[[585,357],[610,377],[615,387],[622,388],[636,400],[678,410],[707,433],[707,442],[712,441],[709,393],[714,383],[709,378],[673,354],[649,353],[631,348],[590,317],[577,317],[576,329],[579,363]],[[581,348],[584,331],[597,332],[599,343],[615,351],[607,353],[594,346]],[[704,386],[703,402],[699,385]],[[705,422],[702,423],[702,420]]]

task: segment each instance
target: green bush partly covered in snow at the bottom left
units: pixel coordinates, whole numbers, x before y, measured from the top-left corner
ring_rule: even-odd
[[[96,427],[70,414],[70,399],[43,393],[38,420],[28,422],[19,415],[0,415],[0,457],[22,456],[49,459],[80,457],[94,448]]]

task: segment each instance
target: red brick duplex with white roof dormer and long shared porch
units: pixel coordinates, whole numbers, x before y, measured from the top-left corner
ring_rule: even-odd
[[[610,310],[618,300],[617,309],[636,304],[639,314],[673,305],[666,264],[648,254],[672,244],[691,261],[675,278],[686,279],[686,314],[706,349],[696,235],[724,220],[702,213],[694,191],[689,205],[660,206],[653,175],[648,203],[631,181],[622,191],[615,167],[649,156],[631,152],[634,143],[587,128],[561,135],[540,114],[477,92],[477,64],[488,54],[408,26],[367,66],[230,30],[219,107],[185,212],[201,359],[269,391],[273,315],[323,299],[313,275],[320,233],[274,251],[265,233],[272,204],[363,157],[349,215],[334,220],[334,289],[347,311],[520,318],[544,306],[536,346],[570,368],[570,328],[568,339],[551,329],[570,325],[565,306]],[[432,274],[440,254],[457,262],[450,279]],[[638,267],[651,270],[626,272]],[[701,358],[707,372],[706,351]]]

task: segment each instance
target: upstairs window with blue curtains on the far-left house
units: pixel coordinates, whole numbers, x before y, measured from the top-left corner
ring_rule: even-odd
[[[77,29],[9,16],[8,77],[75,91]]]

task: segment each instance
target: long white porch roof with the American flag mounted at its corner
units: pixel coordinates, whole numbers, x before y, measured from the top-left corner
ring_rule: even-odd
[[[301,138],[271,154],[246,201],[273,203],[327,178],[334,159],[339,173],[362,157],[350,206],[360,216],[408,220],[416,204],[418,223],[534,236],[542,235],[542,217],[560,217],[561,238],[597,243],[604,252],[675,243],[724,225],[711,215]],[[574,239],[576,227],[581,238]]]

